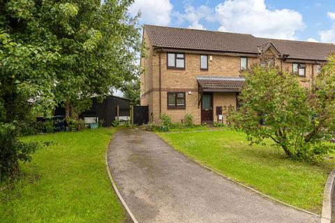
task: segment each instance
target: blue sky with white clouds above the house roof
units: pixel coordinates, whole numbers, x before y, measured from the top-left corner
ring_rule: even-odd
[[[335,43],[335,1],[135,0],[141,24]]]

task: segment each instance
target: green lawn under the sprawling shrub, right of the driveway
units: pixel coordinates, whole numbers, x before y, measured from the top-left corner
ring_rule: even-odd
[[[323,189],[334,161],[296,162],[272,146],[248,146],[245,134],[215,132],[157,133],[177,151],[292,206],[320,214]]]

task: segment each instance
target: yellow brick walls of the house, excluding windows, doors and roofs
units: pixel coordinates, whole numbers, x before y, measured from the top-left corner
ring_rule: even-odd
[[[185,54],[185,69],[168,69],[168,52],[161,51],[152,47],[147,33],[143,34],[145,46],[147,48],[147,58],[141,59],[141,68],[144,70],[141,79],[141,105],[149,105],[149,121],[157,121],[161,114],[169,114],[172,121],[184,121],[186,114],[192,114],[195,123],[201,123],[201,105],[199,105],[198,82],[195,79],[198,76],[213,77],[239,77],[240,75],[240,57],[246,55],[225,55],[214,52],[204,52],[211,56],[208,61],[208,70],[200,70],[200,55],[202,52],[183,52]],[[271,51],[266,52],[271,54]],[[273,54],[272,54],[273,55]],[[160,61],[161,61],[161,103],[159,93],[160,83]],[[260,63],[260,56],[248,56],[248,67],[253,63]],[[283,70],[292,71],[292,62],[275,60],[275,66]],[[313,68],[313,71],[312,71]],[[306,63],[306,77],[301,77],[303,86],[310,86],[311,78],[316,74],[316,66]],[[185,92],[185,109],[168,109],[168,92]],[[236,93],[213,93],[213,112],[214,121],[217,120],[216,107],[236,107]],[[161,108],[160,108],[161,104]],[[223,118],[225,120],[225,118]]]

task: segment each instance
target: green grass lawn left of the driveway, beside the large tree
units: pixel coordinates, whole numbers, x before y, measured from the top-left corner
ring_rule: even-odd
[[[123,222],[105,169],[113,132],[100,128],[25,137],[53,145],[21,165],[23,179],[0,185],[0,222]]]

